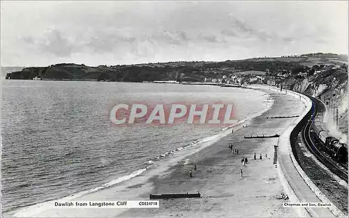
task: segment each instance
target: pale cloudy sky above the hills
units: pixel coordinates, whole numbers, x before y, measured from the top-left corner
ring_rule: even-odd
[[[348,1],[1,1],[1,65],[348,54]]]

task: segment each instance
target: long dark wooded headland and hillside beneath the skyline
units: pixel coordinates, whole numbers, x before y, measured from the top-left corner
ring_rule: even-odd
[[[292,71],[302,65],[341,65],[346,61],[338,54],[303,54],[299,56],[281,56],[255,58],[236,61],[205,62],[178,61],[168,63],[143,63],[136,65],[101,65],[90,67],[73,63],[60,63],[41,68],[24,68],[7,73],[7,79],[96,79],[107,81],[204,81],[206,77],[217,78],[230,74],[277,75],[279,70]],[[347,57],[348,58],[348,57]]]

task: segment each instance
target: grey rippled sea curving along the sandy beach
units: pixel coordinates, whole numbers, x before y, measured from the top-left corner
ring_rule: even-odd
[[[127,184],[144,171],[151,174],[155,162],[207,146],[228,128],[116,126],[109,117],[116,104],[223,102],[234,105],[234,117],[242,122],[267,110],[268,97],[253,89],[218,86],[2,79],[2,213],[15,215],[47,201]]]

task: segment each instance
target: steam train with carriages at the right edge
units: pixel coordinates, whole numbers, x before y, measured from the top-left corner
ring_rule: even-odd
[[[339,139],[332,137],[320,123],[314,123],[313,132],[324,143],[329,155],[338,162],[348,163],[348,145],[346,143],[341,143]]]

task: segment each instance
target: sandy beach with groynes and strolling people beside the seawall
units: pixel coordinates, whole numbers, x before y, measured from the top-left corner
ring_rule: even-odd
[[[274,145],[278,138],[244,139],[250,135],[281,135],[297,118],[267,118],[293,116],[304,110],[304,104],[292,95],[263,90],[273,102],[259,116],[246,120],[217,134],[198,146],[177,151],[166,161],[154,162],[149,170],[131,180],[118,181],[94,192],[75,194],[59,201],[121,201],[149,200],[149,194],[198,193],[201,198],[160,200],[154,209],[54,209],[54,201],[24,208],[15,217],[295,217],[292,208],[283,208],[279,199],[283,186],[274,161]],[[239,149],[232,153],[229,144]],[[253,159],[254,153],[257,159]],[[262,159],[259,159],[262,155]],[[267,157],[266,157],[267,155]],[[242,157],[248,158],[242,166]],[[194,164],[197,170],[193,170]],[[243,175],[241,176],[240,170]],[[189,171],[193,171],[193,178]],[[98,190],[98,192],[97,192]]]

